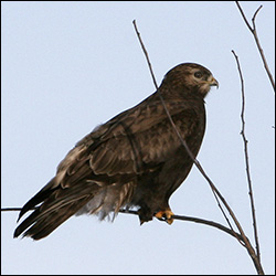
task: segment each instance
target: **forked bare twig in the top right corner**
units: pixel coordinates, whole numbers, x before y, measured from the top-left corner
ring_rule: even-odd
[[[263,8],[263,6],[259,6],[258,9],[255,11],[255,13],[254,13],[254,15],[253,15],[253,18],[252,18],[252,24],[253,24],[253,26],[251,26],[251,24],[248,23],[248,21],[247,21],[245,14],[244,14],[243,9],[242,9],[242,7],[240,6],[238,1],[235,1],[235,3],[236,3],[236,6],[237,6],[237,8],[238,8],[238,10],[240,10],[240,12],[241,12],[243,19],[244,19],[245,24],[247,25],[248,30],[252,32],[252,34],[253,34],[253,36],[254,36],[254,39],[255,39],[255,42],[256,42],[256,44],[257,44],[258,52],[259,52],[261,57],[262,57],[262,61],[263,61],[263,63],[264,63],[265,71],[266,71],[266,73],[267,73],[267,75],[268,75],[268,78],[269,78],[270,84],[272,84],[272,86],[273,86],[273,88],[274,88],[274,92],[275,92],[275,82],[274,82],[274,79],[273,79],[273,75],[272,75],[272,73],[270,73],[270,70],[269,70],[269,67],[268,67],[268,65],[267,65],[267,62],[266,62],[266,59],[265,59],[265,54],[264,54],[264,50],[263,50],[262,46],[261,46],[261,43],[259,43],[259,40],[258,40],[258,35],[257,35],[257,29],[256,29],[256,24],[255,24],[255,20],[256,20],[257,13],[258,13],[259,10]]]

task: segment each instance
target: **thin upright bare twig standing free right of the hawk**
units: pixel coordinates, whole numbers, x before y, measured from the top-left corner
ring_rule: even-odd
[[[240,65],[240,62],[238,62],[238,56],[236,55],[236,53],[234,52],[234,50],[232,50],[232,53],[233,53],[233,55],[235,56],[235,60],[236,60],[237,70],[238,70],[240,78],[241,78],[241,85],[242,85],[242,112],[241,112],[242,130],[241,130],[241,135],[243,137],[243,142],[244,142],[244,157],[245,157],[246,176],[247,176],[247,183],[248,183],[248,190],[250,190],[248,194],[250,194],[250,199],[251,199],[251,210],[252,210],[254,236],[255,236],[255,243],[256,243],[256,252],[257,252],[258,262],[261,263],[261,252],[259,252],[259,244],[258,244],[256,212],[255,212],[253,188],[252,188],[251,172],[250,172],[250,158],[248,158],[248,148],[247,148],[248,140],[246,139],[246,136],[245,136],[245,118],[244,118],[244,113],[245,113],[245,94],[244,94],[244,79],[243,79],[243,74],[242,74],[241,65]]]

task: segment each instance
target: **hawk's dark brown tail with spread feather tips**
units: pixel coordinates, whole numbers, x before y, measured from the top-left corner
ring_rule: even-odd
[[[25,212],[34,211],[15,229],[14,237],[21,234],[33,240],[47,236],[89,202],[96,193],[94,191],[95,184],[78,184],[66,189],[61,188],[61,185],[55,187],[54,183],[55,179],[52,179],[47,185],[24,204],[18,220]]]

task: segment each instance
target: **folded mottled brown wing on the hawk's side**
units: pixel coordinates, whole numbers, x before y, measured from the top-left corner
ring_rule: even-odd
[[[197,124],[197,113],[181,102],[167,103],[167,107],[181,134],[188,136]],[[71,177],[77,171],[83,177],[87,169],[95,176],[108,178],[142,173],[166,161],[168,151],[179,144],[162,104],[155,100],[116,116],[87,135],[73,149],[81,152],[78,157],[73,158],[70,166],[71,157],[66,157],[59,170],[66,168]],[[88,159],[89,168],[83,167],[82,155]]]

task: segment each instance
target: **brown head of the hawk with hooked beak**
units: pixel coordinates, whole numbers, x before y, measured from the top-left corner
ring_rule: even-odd
[[[184,93],[195,93],[205,97],[211,86],[219,88],[219,82],[212,73],[200,64],[182,63],[170,70],[163,78],[161,86],[181,89]]]

